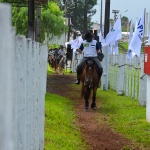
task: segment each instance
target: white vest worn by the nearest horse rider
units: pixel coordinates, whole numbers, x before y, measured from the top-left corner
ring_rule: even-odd
[[[83,41],[84,57],[97,57],[96,43],[96,40],[92,40],[91,42],[87,42],[86,40]]]

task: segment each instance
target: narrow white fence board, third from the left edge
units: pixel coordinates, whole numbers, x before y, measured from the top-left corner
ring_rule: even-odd
[[[26,148],[33,149],[33,49],[32,40],[27,39],[27,70],[26,70]]]

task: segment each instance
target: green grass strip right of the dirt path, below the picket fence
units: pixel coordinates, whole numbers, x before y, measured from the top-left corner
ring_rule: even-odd
[[[108,123],[126,138],[150,149],[150,123],[146,121],[146,108],[138,101],[125,96],[117,96],[115,91],[100,91],[101,113]]]

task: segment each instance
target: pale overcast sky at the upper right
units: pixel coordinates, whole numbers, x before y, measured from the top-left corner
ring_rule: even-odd
[[[92,17],[92,21],[100,22],[100,2],[98,0],[98,4],[94,7],[97,10],[97,13]],[[105,14],[105,0],[103,0],[103,15],[102,20],[104,22],[104,14]],[[114,14],[112,10],[119,10],[119,14],[121,16],[128,17],[129,20],[135,21],[136,18],[139,19],[146,8],[146,12],[150,13],[150,0],[110,0],[110,18],[114,19]],[[127,12],[125,12],[128,10]]]

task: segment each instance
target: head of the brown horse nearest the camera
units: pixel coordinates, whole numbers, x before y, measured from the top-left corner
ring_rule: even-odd
[[[91,59],[86,61],[85,68],[85,85],[93,86],[93,73],[94,73],[95,62]]]

